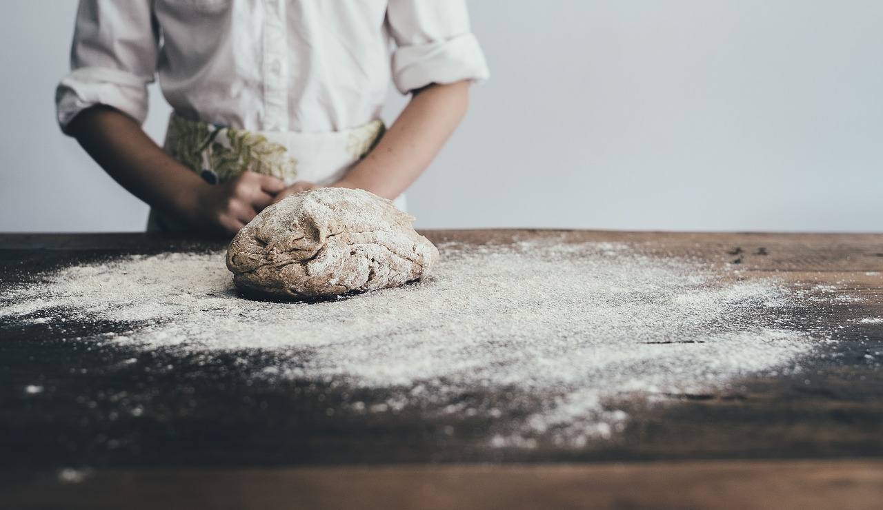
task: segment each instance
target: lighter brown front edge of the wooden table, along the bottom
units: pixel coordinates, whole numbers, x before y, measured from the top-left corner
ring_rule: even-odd
[[[5,507],[877,510],[881,501],[883,461],[690,461],[114,470],[79,484],[30,480]]]

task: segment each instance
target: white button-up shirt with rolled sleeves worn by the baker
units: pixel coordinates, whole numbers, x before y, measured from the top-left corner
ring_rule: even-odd
[[[81,0],[71,61],[63,129],[96,104],[143,123],[155,75],[182,116],[301,132],[378,118],[390,77],[405,94],[488,76],[464,0]]]

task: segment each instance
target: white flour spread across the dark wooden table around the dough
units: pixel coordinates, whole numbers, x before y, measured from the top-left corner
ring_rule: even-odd
[[[350,402],[354,412],[418,406],[493,418],[506,409],[462,409],[457,395],[544,395],[532,415],[501,420],[488,435],[493,446],[530,447],[538,438],[580,446],[623,426],[628,416],[610,403],[617,399],[710,391],[793,368],[812,347],[779,319],[796,300],[776,281],[736,281],[624,244],[439,248],[424,281],[318,303],[239,297],[223,252],[125,257],[13,289],[0,296],[0,318],[47,322],[64,310],[81,320],[138,321],[114,341],[209,355],[265,349],[275,361],[253,367],[253,377],[392,395],[380,405]]]

